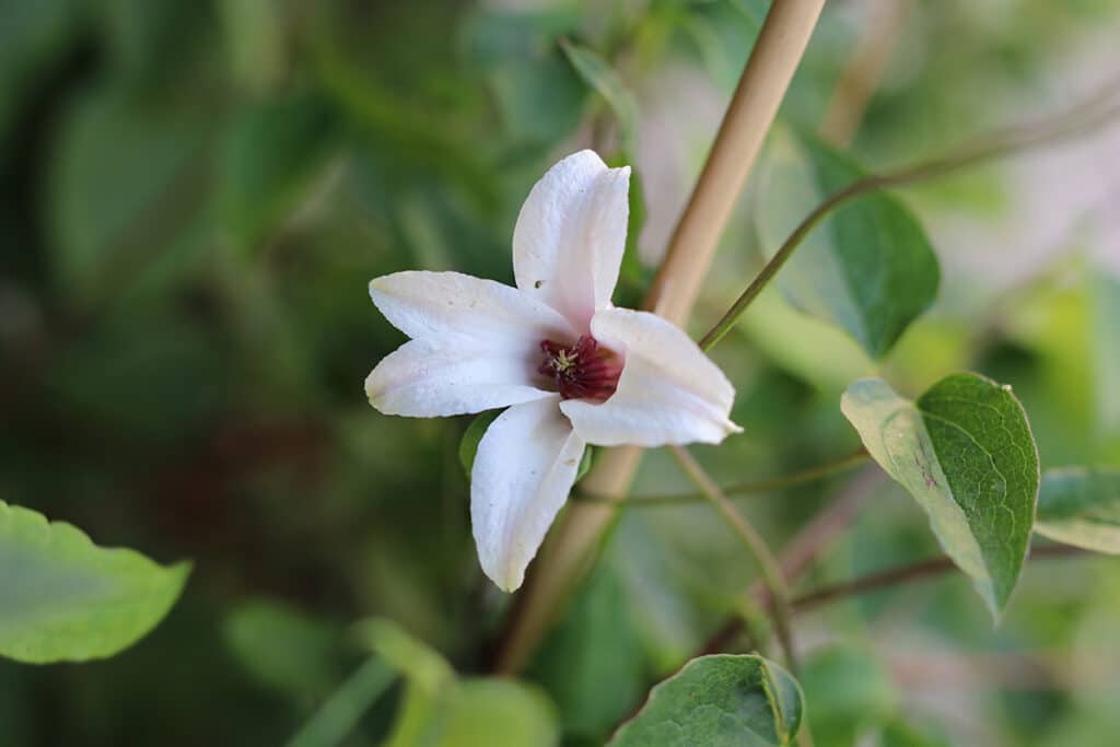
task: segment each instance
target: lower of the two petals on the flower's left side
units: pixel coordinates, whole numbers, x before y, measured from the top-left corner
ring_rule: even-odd
[[[483,348],[455,338],[413,339],[365,380],[370,403],[386,415],[439,418],[554,396],[535,386],[533,347]]]

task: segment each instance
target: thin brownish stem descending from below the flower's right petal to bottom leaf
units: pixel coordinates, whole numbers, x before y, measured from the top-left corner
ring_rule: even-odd
[[[790,587],[785,581],[785,576],[782,573],[782,567],[778,564],[777,558],[771,552],[766,540],[758,533],[758,530],[743,514],[736,511],[735,504],[724,495],[719,486],[704,471],[700,463],[696,460],[696,457],[689,454],[688,449],[682,446],[670,446],[669,451],[684,469],[684,474],[700,488],[708,503],[727,521],[739,540],[743,541],[743,547],[747,549],[747,552],[758,562],[758,567],[762,570],[763,583],[769,594],[771,604],[767,605],[767,609],[774,623],[774,631],[777,634],[782,650],[785,652],[790,670],[796,674],[797,652],[793,644],[791,625],[793,613],[790,605]]]

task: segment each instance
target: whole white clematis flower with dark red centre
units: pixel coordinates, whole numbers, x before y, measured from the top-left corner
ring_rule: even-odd
[[[365,381],[385,414],[508,408],[478,443],[470,517],[483,570],[521,586],[588,445],[718,443],[735,389],[683,332],[610,295],[626,244],[629,167],[584,150],[536,183],[513,232],[517,287],[396,272],[373,302],[412,339]]]

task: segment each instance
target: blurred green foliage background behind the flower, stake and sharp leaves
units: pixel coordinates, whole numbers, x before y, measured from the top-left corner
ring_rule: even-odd
[[[120,656],[0,661],[0,745],[280,744],[361,661],[344,632],[370,615],[483,671],[508,599],[474,554],[469,419],[367,405],[402,336],[366,283],[510,281],[529,188],[594,147],[634,165],[643,267],[616,300],[638,298],[766,7],[0,0],[0,498],[195,562]],[[774,216],[813,206],[776,185],[785,130],[823,123],[872,170],[916,162],[1083,100],[1120,72],[1118,38],[1116,0],[828,3],[692,332],[775,249]],[[913,395],[971,368],[1014,384],[1044,468],[1120,466],[1117,164],[1110,127],[900,193],[942,261],[937,306],[871,362],[768,290],[715,354],[746,432],[698,456],[727,483],[811,467],[858,447],[851,380]],[[849,480],[744,510],[780,547]],[[674,487],[647,455],[635,493]],[[804,588],[935,553],[883,484]],[[564,744],[603,744],[754,576],[706,506],[625,510],[531,667]],[[1118,624],[1120,563],[1089,555],[1028,566],[995,629],[959,575],[806,614],[818,745],[1114,745]],[[347,744],[379,744],[398,697]]]

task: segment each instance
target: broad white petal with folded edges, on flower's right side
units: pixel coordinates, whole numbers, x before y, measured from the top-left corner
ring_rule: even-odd
[[[606,309],[591,334],[626,356],[618,389],[600,404],[566,400],[576,432],[599,446],[719,443],[743,429],[728,420],[735,387],[688,335],[646,311]]]

